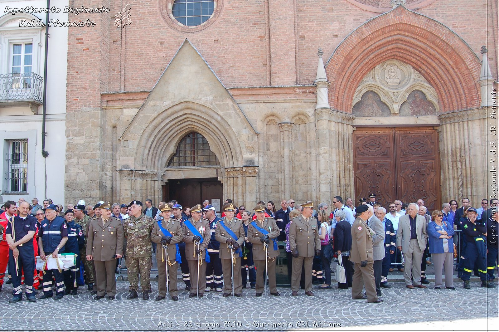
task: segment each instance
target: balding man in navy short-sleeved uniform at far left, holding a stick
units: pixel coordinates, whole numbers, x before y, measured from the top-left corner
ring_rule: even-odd
[[[36,233],[36,218],[28,214],[29,203],[19,204],[19,215],[7,221],[5,238],[8,250],[8,271],[12,276],[12,295],[9,303],[22,300],[21,275],[24,272],[24,288],[29,302],[36,302],[33,288],[34,249],[33,236]],[[13,231],[12,231],[13,225]],[[15,234],[15,237],[12,235]],[[17,273],[15,272],[17,260]]]

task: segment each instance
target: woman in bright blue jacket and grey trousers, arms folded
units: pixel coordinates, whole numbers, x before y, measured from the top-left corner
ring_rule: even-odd
[[[445,271],[445,288],[455,290],[452,286],[454,267],[454,230],[451,225],[446,225],[442,220],[444,213],[436,210],[432,213],[428,224],[428,239],[430,240],[430,253],[435,267],[435,289],[442,288],[442,270]]]

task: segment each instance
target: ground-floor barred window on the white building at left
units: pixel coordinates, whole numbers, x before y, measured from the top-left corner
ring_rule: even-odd
[[[5,153],[7,171],[7,192],[27,192],[28,191],[28,140],[11,139],[7,140],[8,150]]]

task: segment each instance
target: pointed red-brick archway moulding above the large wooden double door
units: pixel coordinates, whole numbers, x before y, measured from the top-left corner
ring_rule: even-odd
[[[398,5],[352,31],[326,64],[331,108],[351,112],[354,93],[376,65],[396,59],[411,65],[436,90],[440,112],[480,105],[481,61],[442,23]]]

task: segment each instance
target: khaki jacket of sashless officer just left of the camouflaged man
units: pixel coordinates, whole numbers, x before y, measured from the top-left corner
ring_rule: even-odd
[[[87,255],[95,261],[112,261],[114,255],[123,255],[123,226],[119,219],[110,217],[102,225],[102,217],[88,225]]]

